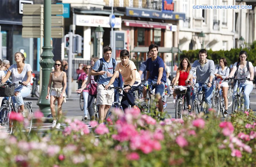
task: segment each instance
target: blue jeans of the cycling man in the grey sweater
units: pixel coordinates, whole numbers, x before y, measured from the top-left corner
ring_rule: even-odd
[[[196,86],[202,86],[204,83],[196,83]],[[213,91],[213,85],[209,88],[207,85],[203,86],[203,89],[205,90],[205,102],[207,104],[207,108],[211,108],[212,107],[212,91]],[[198,91],[201,91],[202,88],[199,88]],[[195,91],[193,91],[192,94],[192,102],[195,99]]]

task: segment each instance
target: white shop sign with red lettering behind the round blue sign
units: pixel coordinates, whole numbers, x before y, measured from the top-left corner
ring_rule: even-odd
[[[106,16],[92,16],[92,15],[75,15],[75,24],[77,26],[88,27],[106,27],[110,28],[110,19]],[[115,25],[113,28],[121,28],[121,18],[115,18]]]

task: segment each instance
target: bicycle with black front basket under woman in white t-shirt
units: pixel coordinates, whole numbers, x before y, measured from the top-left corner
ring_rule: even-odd
[[[19,84],[22,84],[22,83],[19,82]],[[5,86],[5,88],[8,87],[8,90],[11,91],[10,95],[5,96],[5,97],[9,97],[9,99],[3,100],[4,104],[0,108],[0,124],[4,127],[5,132],[9,133],[10,135],[15,130],[13,128],[14,127],[13,121],[10,122],[10,119],[9,119],[11,112],[16,112],[15,106],[14,106],[14,103],[12,100],[12,97],[14,96],[15,85],[18,85],[18,84],[12,83],[12,84],[1,84],[0,85],[0,86]],[[20,109],[20,107],[18,107],[18,111],[19,111],[19,109]],[[24,102],[24,110],[25,110],[25,118],[28,120],[28,122],[26,122],[24,127],[22,129],[19,129],[19,131],[24,132],[26,134],[26,136],[28,137],[31,132],[31,128],[32,128],[32,114],[33,114],[32,101]]]

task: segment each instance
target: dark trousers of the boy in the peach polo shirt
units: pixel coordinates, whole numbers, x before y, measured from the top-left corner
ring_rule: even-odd
[[[123,97],[121,100],[121,105],[123,107],[123,110],[125,110],[126,108],[128,108],[129,104],[131,106],[134,106],[136,104],[135,98],[133,96],[133,92],[135,90],[137,90],[137,88],[139,88],[138,82],[135,82],[132,86],[132,88],[130,90],[128,90],[128,92],[123,91]],[[128,85],[123,85],[123,87],[125,88]]]

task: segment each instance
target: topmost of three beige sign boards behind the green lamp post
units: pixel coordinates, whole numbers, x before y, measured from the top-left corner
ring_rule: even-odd
[[[24,4],[23,15],[40,15],[40,6],[42,4]],[[63,5],[62,4],[51,4],[51,15],[62,15]]]

